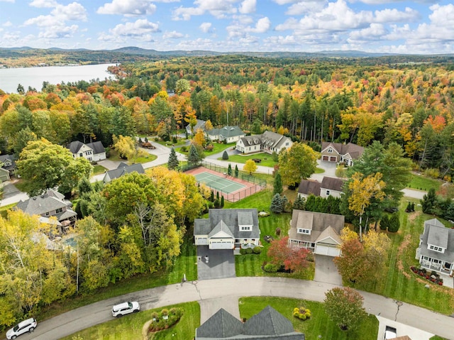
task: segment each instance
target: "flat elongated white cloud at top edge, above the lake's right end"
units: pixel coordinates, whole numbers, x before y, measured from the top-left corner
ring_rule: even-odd
[[[123,16],[142,16],[155,13],[156,5],[151,0],[112,0],[99,7],[99,14],[120,14]]]

